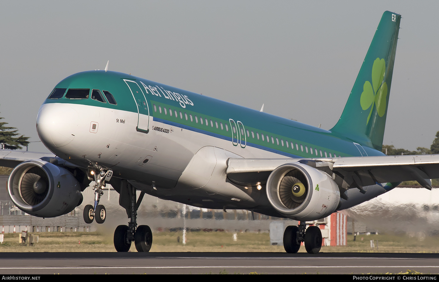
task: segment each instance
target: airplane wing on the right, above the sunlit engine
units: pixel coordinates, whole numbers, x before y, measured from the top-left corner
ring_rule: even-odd
[[[231,181],[252,185],[255,179],[267,179],[271,171],[287,163],[302,163],[324,171],[344,189],[357,187],[362,190],[363,186],[410,180],[416,180],[425,188],[432,189],[431,183],[426,179],[439,178],[439,155],[320,159],[230,158],[226,172]]]

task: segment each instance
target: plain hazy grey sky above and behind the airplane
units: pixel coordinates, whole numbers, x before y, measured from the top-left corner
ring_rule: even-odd
[[[121,71],[331,129],[384,11],[402,15],[384,144],[430,147],[439,1],[0,1],[0,117],[36,115],[79,71]]]

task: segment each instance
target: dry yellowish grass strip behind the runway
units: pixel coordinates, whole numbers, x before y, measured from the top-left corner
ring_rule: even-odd
[[[112,232],[32,234],[39,236],[39,242],[34,246],[22,246],[18,243],[18,233],[5,233],[0,252],[115,252]],[[233,232],[187,232],[186,245],[182,238],[182,232],[154,232],[151,252],[284,252],[283,246],[270,245],[269,233],[237,233],[237,241],[234,241]],[[374,240],[374,250],[370,240]],[[134,243],[130,251],[136,251]],[[299,252],[305,252],[305,248],[302,246]],[[353,235],[348,235],[347,246],[323,246],[320,252],[439,253],[439,236],[417,239],[405,235],[371,234],[356,236],[353,241]]]

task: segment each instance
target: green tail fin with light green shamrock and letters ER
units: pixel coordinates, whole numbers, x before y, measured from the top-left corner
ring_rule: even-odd
[[[385,11],[364,58],[335,136],[381,150],[401,16]]]

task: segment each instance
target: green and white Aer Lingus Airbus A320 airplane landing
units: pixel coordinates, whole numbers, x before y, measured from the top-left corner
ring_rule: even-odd
[[[370,200],[399,182],[431,189],[439,156],[381,153],[401,16],[386,11],[352,92],[330,130],[114,71],[84,71],[55,86],[36,127],[54,155],[0,151],[15,167],[12,201],[37,217],[67,214],[95,181],[84,220],[105,220],[106,184],[120,194],[130,222],[115,248],[148,252],[152,233],[137,226],[144,193],[209,209],[246,209],[300,221],[284,232],[284,248],[301,242],[318,253],[320,229],[306,221]],[[136,190],[140,196],[136,198]]]

